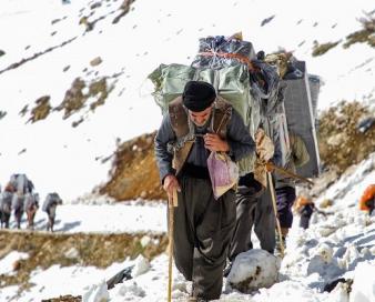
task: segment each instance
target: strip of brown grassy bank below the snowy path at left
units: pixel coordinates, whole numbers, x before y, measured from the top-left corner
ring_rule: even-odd
[[[126,256],[143,254],[148,259],[162,253],[166,249],[165,235],[149,235],[151,243],[142,246],[144,234],[51,234],[40,232],[1,231],[0,258],[11,251],[29,254],[26,260],[14,263],[13,275],[0,275],[0,288],[18,284],[19,291],[31,286],[30,273],[37,269],[51,265],[93,265],[107,268],[113,262],[121,262]],[[152,243],[154,242],[154,243]],[[74,250],[75,255],[69,251]]]

